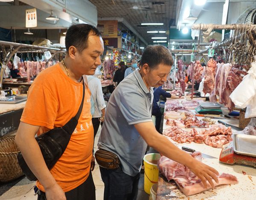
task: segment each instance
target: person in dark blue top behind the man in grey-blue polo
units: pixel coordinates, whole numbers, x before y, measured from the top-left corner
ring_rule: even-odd
[[[156,117],[156,129],[157,131],[162,134],[162,132],[160,131],[160,124],[161,124],[161,120],[162,120],[162,113],[160,111],[160,107],[158,106],[157,102],[159,102],[160,100],[160,95],[162,95],[163,97],[166,98],[174,98],[174,99],[178,99],[179,97],[174,95],[174,94],[170,94],[169,92],[166,92],[162,89],[163,86],[159,86],[158,88],[154,88],[154,99],[153,99],[153,108],[152,108],[152,115],[154,115]]]

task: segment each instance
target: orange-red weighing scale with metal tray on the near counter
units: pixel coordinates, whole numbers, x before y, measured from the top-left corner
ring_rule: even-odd
[[[253,148],[254,146],[254,148]],[[256,167],[256,136],[234,134],[233,142],[226,144],[219,160],[227,164],[242,164]]]

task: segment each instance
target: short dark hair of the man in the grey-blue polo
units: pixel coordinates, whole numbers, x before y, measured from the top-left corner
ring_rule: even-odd
[[[151,69],[154,69],[159,64],[173,65],[172,53],[169,49],[162,45],[150,45],[148,46],[140,60],[140,65],[148,64]]]

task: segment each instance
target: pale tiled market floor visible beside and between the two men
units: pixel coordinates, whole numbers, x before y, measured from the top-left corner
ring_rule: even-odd
[[[101,127],[95,138],[94,152],[98,149],[97,143],[99,140],[99,134],[101,131]],[[154,150],[150,150],[152,152]],[[150,153],[149,152],[149,153]],[[92,172],[94,184],[96,186],[96,200],[103,200],[104,194],[104,183],[102,182],[99,165],[96,163],[95,169]],[[3,193],[0,196],[0,200],[36,200],[37,196],[34,196],[33,186],[35,186],[35,182],[29,181],[26,178],[20,180],[17,184],[15,184],[11,189]],[[4,187],[4,185],[0,185],[0,187]],[[144,191],[144,174],[140,175],[139,182],[139,193],[137,200],[148,200],[149,195]]]

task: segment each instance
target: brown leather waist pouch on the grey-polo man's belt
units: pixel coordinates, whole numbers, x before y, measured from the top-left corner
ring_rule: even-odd
[[[99,166],[105,169],[117,169],[119,167],[119,158],[112,152],[100,149],[95,152],[94,156]]]

